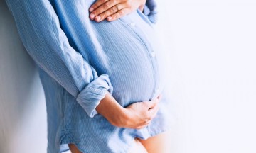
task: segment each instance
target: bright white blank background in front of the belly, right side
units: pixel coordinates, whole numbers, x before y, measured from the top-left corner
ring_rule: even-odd
[[[159,1],[172,153],[256,152],[256,1]]]

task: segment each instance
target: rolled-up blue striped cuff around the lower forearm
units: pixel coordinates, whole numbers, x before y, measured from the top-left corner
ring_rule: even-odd
[[[99,105],[102,98],[105,97],[107,91],[112,94],[113,87],[109,76],[107,74],[102,74],[91,81],[90,84],[87,84],[85,89],[82,89],[80,94],[78,94],[76,100],[80,103],[80,106],[82,106],[87,115],[89,115],[90,118],[93,118],[97,114],[95,108]]]

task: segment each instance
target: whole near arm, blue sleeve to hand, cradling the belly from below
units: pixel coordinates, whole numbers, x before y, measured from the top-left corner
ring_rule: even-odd
[[[144,128],[156,115],[160,98],[123,108],[113,98],[107,74],[97,72],[69,45],[48,0],[6,0],[24,47],[33,60],[76,98],[91,118],[100,113],[119,127]],[[97,111],[96,111],[97,110]]]

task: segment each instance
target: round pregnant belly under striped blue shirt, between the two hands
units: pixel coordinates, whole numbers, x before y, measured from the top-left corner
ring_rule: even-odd
[[[110,76],[114,98],[122,106],[149,101],[159,86],[149,23],[134,11],[114,22],[95,23],[95,30],[108,61],[103,72]]]

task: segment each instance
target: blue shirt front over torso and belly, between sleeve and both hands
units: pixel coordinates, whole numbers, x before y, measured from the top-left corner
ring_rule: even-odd
[[[85,10],[93,1],[70,7],[74,18],[65,16],[65,10],[58,11],[70,45],[98,75],[110,76],[112,95],[122,106],[156,97],[160,88],[158,48],[150,21],[139,10],[112,22],[90,21]]]

